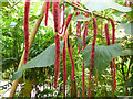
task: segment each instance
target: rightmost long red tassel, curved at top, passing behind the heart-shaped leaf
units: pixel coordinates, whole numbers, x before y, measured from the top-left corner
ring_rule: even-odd
[[[112,44],[114,44],[115,43],[115,24],[114,24],[114,21],[112,20],[112,19],[110,19],[109,18],[109,20],[110,20],[110,22],[111,22],[111,25],[112,25]],[[113,68],[113,88],[114,89],[116,89],[116,76],[115,76],[115,74],[116,74],[116,68],[115,68],[115,58],[113,58],[113,61],[112,61],[112,68]],[[113,89],[113,91],[114,91],[114,89]]]

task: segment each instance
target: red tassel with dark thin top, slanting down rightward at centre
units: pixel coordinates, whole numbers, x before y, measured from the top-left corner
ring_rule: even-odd
[[[72,64],[72,80],[74,81],[75,80],[75,66],[74,66],[74,59],[72,57],[72,52],[71,52],[71,47],[70,47],[70,44],[69,44],[69,37],[68,37],[68,51],[69,51],[69,56],[70,56],[70,59],[71,59],[71,64]]]

